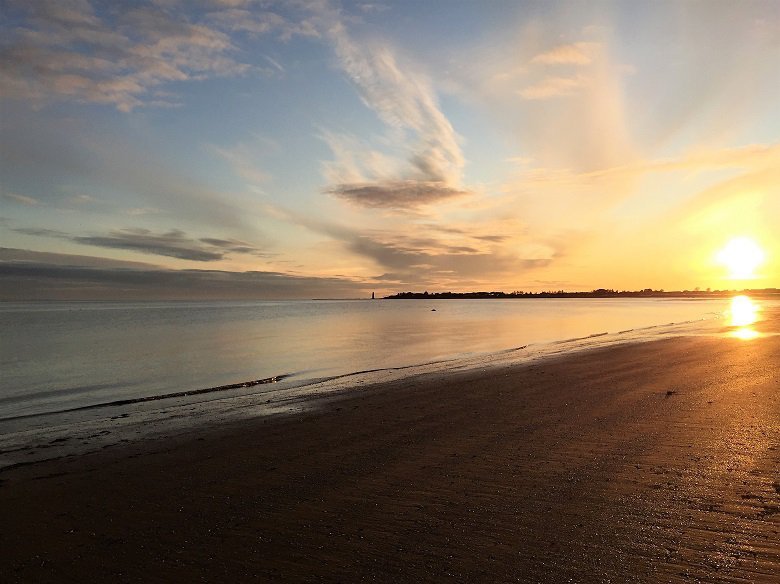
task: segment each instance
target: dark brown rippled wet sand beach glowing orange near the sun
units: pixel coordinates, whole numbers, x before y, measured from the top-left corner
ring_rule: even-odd
[[[776,583],[779,363],[620,345],[7,469],[0,581]]]

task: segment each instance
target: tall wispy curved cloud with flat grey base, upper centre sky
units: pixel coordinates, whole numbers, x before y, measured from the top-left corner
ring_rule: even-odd
[[[396,152],[405,154],[349,150],[351,137],[330,134],[325,139],[336,159],[325,165],[331,181],[325,191],[358,206],[394,209],[465,194],[459,138],[430,80],[386,44],[356,41],[333,10],[321,9],[320,17],[340,68],[385,124]]]

